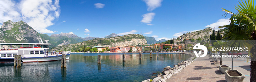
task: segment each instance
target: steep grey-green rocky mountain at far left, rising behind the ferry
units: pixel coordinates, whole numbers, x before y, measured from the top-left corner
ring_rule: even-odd
[[[0,42],[31,42],[37,43],[40,41],[40,36],[26,22],[6,21],[0,28]]]

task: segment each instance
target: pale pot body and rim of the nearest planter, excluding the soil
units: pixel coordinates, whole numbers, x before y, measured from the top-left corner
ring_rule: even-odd
[[[236,71],[240,76],[230,76],[228,74],[229,71]],[[242,82],[245,78],[245,75],[240,73],[238,70],[226,70],[225,71],[225,79],[227,82]]]

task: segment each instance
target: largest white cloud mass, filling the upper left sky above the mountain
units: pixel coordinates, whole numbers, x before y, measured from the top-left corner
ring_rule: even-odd
[[[59,0],[0,0],[0,22],[22,20],[39,33],[54,33],[46,28],[59,16]]]

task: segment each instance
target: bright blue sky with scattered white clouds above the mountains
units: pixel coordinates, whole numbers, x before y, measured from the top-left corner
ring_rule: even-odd
[[[157,40],[229,24],[240,0],[21,0],[0,1],[0,24],[25,21],[39,33],[103,38],[143,34]],[[241,2],[241,1],[240,1]],[[217,28],[218,29],[218,28]]]

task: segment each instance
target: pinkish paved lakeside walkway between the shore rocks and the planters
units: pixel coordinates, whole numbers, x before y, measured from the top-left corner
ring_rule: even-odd
[[[208,55],[207,55],[208,56]],[[197,58],[180,73],[174,74],[166,82],[225,82],[225,75],[211,62],[210,56]]]

